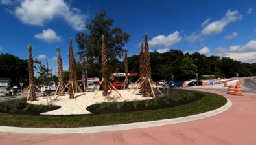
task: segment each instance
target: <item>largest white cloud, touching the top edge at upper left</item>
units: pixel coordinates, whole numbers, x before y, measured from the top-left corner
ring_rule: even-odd
[[[77,8],[70,8],[64,0],[23,0],[20,3],[15,15],[25,24],[43,26],[47,21],[60,17],[75,30],[84,30],[86,15]]]

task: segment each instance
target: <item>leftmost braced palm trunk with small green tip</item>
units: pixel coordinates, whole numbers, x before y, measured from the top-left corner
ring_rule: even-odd
[[[34,63],[32,55],[32,46],[27,46],[27,50],[29,50],[29,101],[36,101],[36,96],[34,95],[36,92],[36,86],[34,84]]]

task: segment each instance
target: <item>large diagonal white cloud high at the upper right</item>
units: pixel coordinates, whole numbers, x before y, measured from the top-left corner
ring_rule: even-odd
[[[201,33],[203,35],[219,34],[228,23],[237,21],[239,19],[242,19],[242,16],[239,15],[238,10],[227,10],[226,15],[222,17],[222,19],[213,21],[211,24],[205,26]]]

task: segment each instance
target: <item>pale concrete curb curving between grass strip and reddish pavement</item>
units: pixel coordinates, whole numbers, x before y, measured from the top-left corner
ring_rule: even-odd
[[[227,99],[227,98],[226,98]],[[182,122],[195,121],[198,119],[204,119],[206,117],[211,117],[228,110],[232,106],[232,103],[227,99],[227,103],[209,112],[191,115],[187,117],[179,117],[175,119],[163,119],[159,121],[148,121],[148,122],[137,122],[130,124],[119,124],[110,126],[94,126],[94,127],[82,127],[82,128],[20,128],[20,127],[10,127],[10,126],[0,126],[0,132],[9,133],[36,133],[36,134],[69,134],[69,133],[97,133],[104,131],[117,131],[117,130],[130,130],[135,128],[148,128],[154,126],[163,126],[168,124],[178,124]]]

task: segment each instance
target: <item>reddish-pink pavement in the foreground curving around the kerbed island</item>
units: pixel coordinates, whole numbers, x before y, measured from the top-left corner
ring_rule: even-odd
[[[229,110],[218,115],[180,124],[101,133],[65,135],[0,133],[6,144],[255,144],[256,96],[227,95]]]

